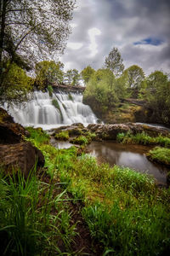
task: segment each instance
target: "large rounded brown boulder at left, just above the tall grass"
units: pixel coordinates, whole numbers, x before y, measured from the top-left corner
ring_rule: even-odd
[[[5,172],[18,170],[28,177],[29,172],[37,163],[37,166],[44,165],[42,152],[33,147],[29,142],[0,145],[0,163]]]

